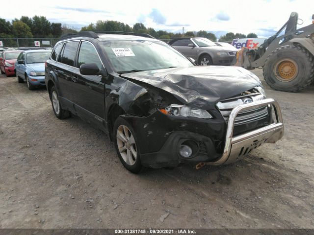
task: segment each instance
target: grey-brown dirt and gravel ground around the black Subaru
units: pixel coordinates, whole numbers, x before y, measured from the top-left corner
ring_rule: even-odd
[[[314,87],[265,87],[281,141],[236,164],[134,175],[103,132],[1,75],[0,228],[314,228]]]

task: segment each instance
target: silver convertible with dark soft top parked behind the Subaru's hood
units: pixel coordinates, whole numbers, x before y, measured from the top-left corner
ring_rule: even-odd
[[[230,65],[237,49],[219,46],[207,38],[177,38],[169,44],[198,65]]]

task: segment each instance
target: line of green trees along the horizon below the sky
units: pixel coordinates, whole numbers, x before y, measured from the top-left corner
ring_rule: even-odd
[[[124,31],[148,33],[158,39],[172,39],[178,37],[205,37],[216,41],[215,34],[206,30],[187,31],[182,33],[172,33],[164,30],[155,30],[146,27],[142,23],[136,23],[133,26],[118,21],[97,21],[95,24],[89,24],[81,28],[81,31]],[[32,18],[22,16],[20,19],[14,19],[11,22],[0,18],[0,38],[59,38],[64,33],[76,33],[77,30],[61,23],[51,23],[44,16],[34,16]],[[257,38],[255,33],[244,35],[242,33],[229,32],[219,38],[220,41],[232,41],[235,38]]]

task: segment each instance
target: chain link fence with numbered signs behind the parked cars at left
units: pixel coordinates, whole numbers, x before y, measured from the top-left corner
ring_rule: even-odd
[[[0,48],[54,47],[59,38],[0,38]]]

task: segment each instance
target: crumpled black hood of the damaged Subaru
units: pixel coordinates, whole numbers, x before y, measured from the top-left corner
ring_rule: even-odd
[[[250,71],[232,66],[194,66],[121,74],[173,94],[183,104],[209,109],[219,100],[256,86],[259,78]]]

